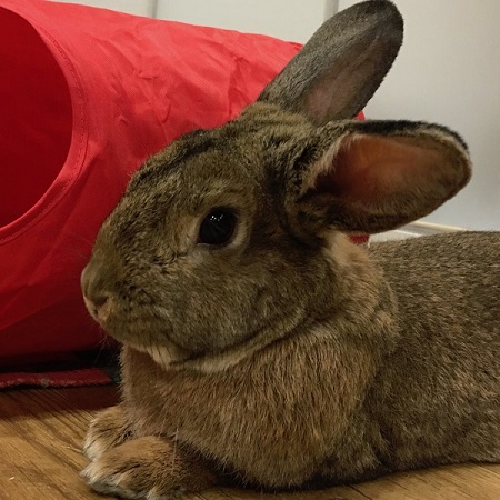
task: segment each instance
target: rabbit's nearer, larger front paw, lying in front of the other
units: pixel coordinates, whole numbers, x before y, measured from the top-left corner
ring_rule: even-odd
[[[156,437],[109,449],[81,474],[94,491],[127,499],[171,500],[213,484],[210,472],[184,460],[176,444]]]

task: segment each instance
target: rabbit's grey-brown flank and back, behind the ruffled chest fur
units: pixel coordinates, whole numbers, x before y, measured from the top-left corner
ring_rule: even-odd
[[[500,233],[370,247],[400,341],[368,399],[397,468],[500,459]],[[420,459],[420,460],[419,460]]]

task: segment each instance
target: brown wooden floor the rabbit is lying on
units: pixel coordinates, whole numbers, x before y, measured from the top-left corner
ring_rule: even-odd
[[[92,412],[112,387],[0,391],[0,500],[99,500],[78,476]],[[457,466],[326,491],[264,496],[214,490],[186,500],[500,500],[500,466]]]

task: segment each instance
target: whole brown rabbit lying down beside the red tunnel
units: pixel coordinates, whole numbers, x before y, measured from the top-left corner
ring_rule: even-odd
[[[81,286],[122,343],[82,477],[173,499],[500,461],[500,233],[356,246],[469,181],[438,124],[353,119],[402,42],[389,1],[330,18],[258,100],[132,177]]]

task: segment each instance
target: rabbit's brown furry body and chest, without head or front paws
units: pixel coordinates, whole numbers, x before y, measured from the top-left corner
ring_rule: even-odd
[[[484,286],[500,286],[499,253],[500,233],[481,234],[479,246],[478,233],[373,244],[398,310],[379,277],[352,274],[340,318],[306,324],[227,370],[164,371],[126,349],[134,432],[176,437],[228,481],[268,488],[498,461],[500,304]],[[478,276],[478,261],[489,272]],[[362,316],[361,297],[366,323],[353,331],[346,311]],[[422,314],[430,304],[434,313]]]

